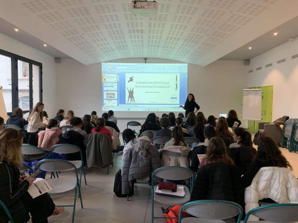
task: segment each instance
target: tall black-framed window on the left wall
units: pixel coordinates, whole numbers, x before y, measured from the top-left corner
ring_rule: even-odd
[[[0,86],[8,115],[17,107],[28,113],[42,101],[41,75],[41,63],[0,49]]]

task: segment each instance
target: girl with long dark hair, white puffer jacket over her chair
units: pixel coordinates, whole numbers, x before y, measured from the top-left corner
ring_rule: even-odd
[[[256,157],[242,177],[245,213],[258,207],[258,201],[271,198],[277,203],[298,203],[298,180],[293,168],[270,137],[261,137]],[[251,215],[249,221],[258,221]]]

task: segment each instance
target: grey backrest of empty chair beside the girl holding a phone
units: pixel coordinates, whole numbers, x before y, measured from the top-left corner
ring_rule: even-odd
[[[39,161],[36,164],[36,167],[38,169],[41,169],[43,171],[48,171],[48,172],[63,171],[66,169],[74,168],[77,176],[77,168],[75,167],[75,165],[69,161],[62,160],[62,159],[44,159]]]

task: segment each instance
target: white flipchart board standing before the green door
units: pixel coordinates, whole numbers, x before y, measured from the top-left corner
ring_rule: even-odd
[[[242,119],[262,121],[262,89],[243,89]]]

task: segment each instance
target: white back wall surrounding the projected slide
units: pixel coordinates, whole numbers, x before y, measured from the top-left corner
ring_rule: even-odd
[[[119,59],[108,62],[143,63],[143,58]],[[168,59],[149,58],[149,63],[182,63]],[[85,66],[75,59],[61,59],[57,64],[57,109],[73,110],[83,117],[102,111],[101,63]],[[189,64],[187,92],[195,95],[205,116],[219,116],[235,109],[241,117],[242,91],[246,87],[247,67],[243,61],[215,61],[206,67]],[[145,118],[150,112],[115,112],[116,117]],[[164,112],[155,112],[161,117]],[[168,112],[166,112],[168,113]],[[176,112],[178,114],[178,112]],[[176,114],[175,113],[175,114]],[[176,114],[176,115],[177,115]]]

